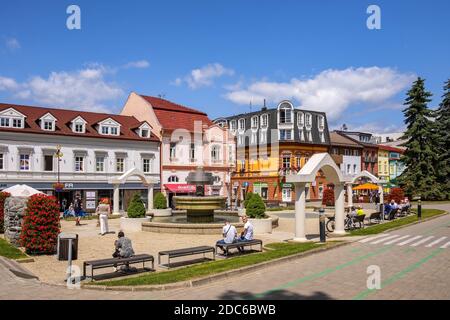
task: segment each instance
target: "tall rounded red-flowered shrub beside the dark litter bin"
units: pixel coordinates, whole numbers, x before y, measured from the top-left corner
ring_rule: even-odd
[[[29,254],[53,254],[56,251],[59,205],[53,196],[35,194],[28,199],[20,243]]]

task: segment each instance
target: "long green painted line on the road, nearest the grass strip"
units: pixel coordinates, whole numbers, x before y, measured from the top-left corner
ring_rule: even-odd
[[[381,253],[384,253],[385,251],[388,251],[391,248],[392,248],[392,245],[386,246],[386,247],[383,247],[381,249],[378,249],[378,250],[375,250],[373,252],[370,252],[368,254],[365,254],[363,256],[359,256],[359,257],[357,257],[355,259],[350,260],[349,262],[343,263],[343,264],[338,265],[338,266],[336,266],[334,268],[327,268],[327,269],[325,269],[325,270],[323,270],[321,272],[318,272],[318,273],[315,273],[315,274],[312,274],[312,275],[309,275],[309,276],[306,276],[306,277],[302,277],[302,278],[299,278],[299,279],[295,279],[295,280],[287,282],[287,283],[285,283],[285,284],[283,284],[281,286],[278,286],[278,287],[276,287],[274,289],[271,289],[271,290],[268,290],[268,291],[265,291],[265,292],[262,292],[262,293],[255,294],[252,297],[250,297],[250,300],[263,298],[264,296],[266,296],[266,295],[268,295],[268,294],[270,294],[272,292],[276,292],[278,290],[295,287],[295,286],[297,286],[297,285],[299,285],[299,284],[301,284],[303,282],[310,281],[310,280],[315,280],[315,279],[324,277],[324,276],[326,276],[326,275],[328,275],[330,273],[342,270],[342,269],[344,269],[346,267],[349,267],[351,265],[354,265],[354,264],[356,264],[358,262],[361,262],[361,261],[366,260],[368,258],[371,258],[371,257],[374,257],[374,256],[379,255]]]

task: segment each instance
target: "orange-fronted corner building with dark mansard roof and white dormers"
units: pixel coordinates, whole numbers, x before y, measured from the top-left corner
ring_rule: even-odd
[[[286,175],[298,172],[313,154],[328,152],[330,146],[326,115],[294,108],[290,101],[215,122],[228,126],[236,137],[231,179],[236,206],[248,192],[258,193],[269,205],[292,204],[294,186],[286,182]],[[319,172],[307,187],[307,199],[321,199],[326,179]]]

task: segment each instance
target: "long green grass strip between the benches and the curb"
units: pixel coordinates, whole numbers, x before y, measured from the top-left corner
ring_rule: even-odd
[[[235,258],[206,262],[176,270],[155,272],[128,279],[101,281],[96,282],[94,284],[106,286],[140,286],[140,285],[158,285],[158,284],[174,283],[179,281],[192,280],[195,278],[213,275],[242,267],[247,267],[250,265],[255,265],[261,262],[294,255],[297,253],[309,251],[323,246],[332,247],[335,245],[337,245],[336,242],[334,243],[329,242],[323,245],[317,245],[312,242],[271,243],[266,246],[271,249],[270,251],[265,251],[261,253],[252,253],[243,256],[238,256]]]

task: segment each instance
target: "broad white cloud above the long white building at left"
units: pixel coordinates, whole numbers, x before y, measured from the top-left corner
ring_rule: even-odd
[[[0,77],[0,89],[46,106],[110,112],[104,102],[117,99],[124,92],[117,84],[106,81],[105,73],[105,68],[88,67],[74,72],[52,72],[48,77],[35,76],[23,83]]]

